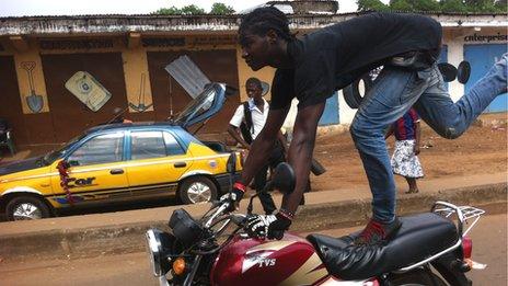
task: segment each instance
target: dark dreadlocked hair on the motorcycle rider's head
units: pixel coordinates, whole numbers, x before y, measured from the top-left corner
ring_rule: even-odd
[[[274,30],[277,35],[286,41],[291,39],[289,22],[285,13],[275,7],[257,8],[242,19],[240,24],[240,37],[249,31],[253,34],[264,36],[269,30]],[[240,38],[241,39],[241,38]]]

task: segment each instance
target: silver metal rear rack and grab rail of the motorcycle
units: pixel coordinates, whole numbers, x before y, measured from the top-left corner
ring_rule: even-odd
[[[400,268],[396,272],[407,272],[411,270],[414,270],[416,267],[419,267],[426,263],[431,262],[435,259],[438,259],[444,253],[448,253],[450,251],[453,251],[454,249],[459,248],[462,244],[462,238],[467,234],[467,232],[473,228],[473,226],[478,221],[480,217],[485,214],[485,210],[472,207],[472,206],[455,206],[453,204],[447,203],[447,202],[441,202],[438,201],[434,204],[431,208],[432,213],[436,213],[438,215],[441,215],[446,218],[450,218],[453,214],[457,215],[458,217],[458,224],[457,224],[457,229],[459,231],[459,239],[457,240],[457,243],[451,245],[450,248],[434,254],[432,256],[425,259],[420,262],[417,262],[413,265],[406,266],[404,268]],[[470,222],[471,221],[471,222]],[[467,229],[463,231],[464,224],[467,226]]]

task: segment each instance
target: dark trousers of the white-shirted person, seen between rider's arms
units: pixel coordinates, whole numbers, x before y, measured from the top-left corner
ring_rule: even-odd
[[[263,187],[265,187],[266,185],[266,173],[268,172],[268,168],[275,169],[277,164],[284,161],[284,149],[277,142],[277,145],[274,148],[274,151],[272,151],[268,163],[265,167],[263,167],[254,178],[254,188],[256,190],[256,193],[259,194],[261,204],[263,206],[263,209],[265,210],[265,214],[267,215],[274,213],[274,210],[276,210],[277,207],[275,206],[272,195],[268,193],[261,193],[261,191],[263,191]]]

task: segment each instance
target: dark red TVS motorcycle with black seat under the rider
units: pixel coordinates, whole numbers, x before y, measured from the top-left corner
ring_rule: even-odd
[[[231,181],[235,160],[228,161]],[[281,163],[265,190],[289,193],[293,187],[292,169]],[[171,232],[149,229],[147,247],[160,285],[472,285],[464,275],[473,264],[466,234],[482,209],[437,202],[429,213],[401,217],[402,227],[390,241],[355,245],[357,233],[250,237],[245,221],[254,197],[246,215],[227,211],[228,202],[215,202],[200,219],[184,209],[173,211]]]

